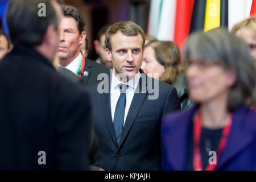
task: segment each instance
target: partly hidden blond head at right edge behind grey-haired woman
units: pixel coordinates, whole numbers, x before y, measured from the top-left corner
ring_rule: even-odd
[[[231,30],[240,36],[250,48],[256,68],[256,17],[249,17],[235,24]]]

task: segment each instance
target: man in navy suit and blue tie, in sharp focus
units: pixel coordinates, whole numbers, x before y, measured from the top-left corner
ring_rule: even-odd
[[[102,75],[104,80],[90,88],[100,142],[96,165],[105,170],[159,170],[161,120],[180,109],[176,89],[140,69],[144,32],[137,24],[113,24],[105,46],[113,61],[112,76]]]

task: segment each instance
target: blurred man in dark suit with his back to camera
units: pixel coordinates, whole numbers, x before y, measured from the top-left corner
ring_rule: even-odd
[[[0,170],[88,169],[89,96],[51,63],[61,18],[53,0],[9,3],[14,48],[0,63]]]

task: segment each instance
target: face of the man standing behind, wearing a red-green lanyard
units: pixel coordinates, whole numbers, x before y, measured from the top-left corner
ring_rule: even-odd
[[[74,18],[64,17],[60,22],[60,59],[74,60],[79,55],[85,36],[85,32],[79,34]]]

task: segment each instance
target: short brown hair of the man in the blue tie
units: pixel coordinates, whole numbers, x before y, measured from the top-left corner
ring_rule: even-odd
[[[142,47],[144,47],[145,44],[145,34],[141,27],[138,26],[138,24],[126,21],[126,22],[118,22],[113,24],[108,28],[106,31],[106,38],[105,38],[105,47],[109,49],[109,51],[112,51],[110,39],[111,36],[116,34],[118,31],[121,31],[123,35],[126,36],[137,36],[140,34],[142,36],[143,44]]]

